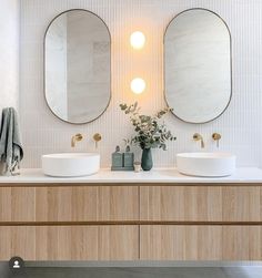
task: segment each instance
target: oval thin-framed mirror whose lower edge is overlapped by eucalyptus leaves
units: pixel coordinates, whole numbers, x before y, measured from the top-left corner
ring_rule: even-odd
[[[164,34],[164,96],[173,114],[206,123],[228,107],[232,94],[231,34],[205,9],[179,13]]]

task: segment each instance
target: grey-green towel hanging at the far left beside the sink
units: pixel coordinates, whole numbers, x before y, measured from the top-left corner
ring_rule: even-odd
[[[23,157],[18,114],[13,107],[2,110],[0,126],[0,162],[6,165],[6,173],[12,174],[16,167],[20,168]]]

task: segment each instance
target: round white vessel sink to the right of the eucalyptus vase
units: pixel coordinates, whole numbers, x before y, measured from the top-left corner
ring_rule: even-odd
[[[203,177],[230,176],[235,169],[235,155],[230,153],[181,153],[177,155],[178,171]]]

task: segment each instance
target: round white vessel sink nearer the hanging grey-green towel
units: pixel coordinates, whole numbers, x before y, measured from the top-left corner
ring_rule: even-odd
[[[95,153],[63,153],[42,155],[42,171],[57,177],[78,177],[98,173],[100,155]]]

